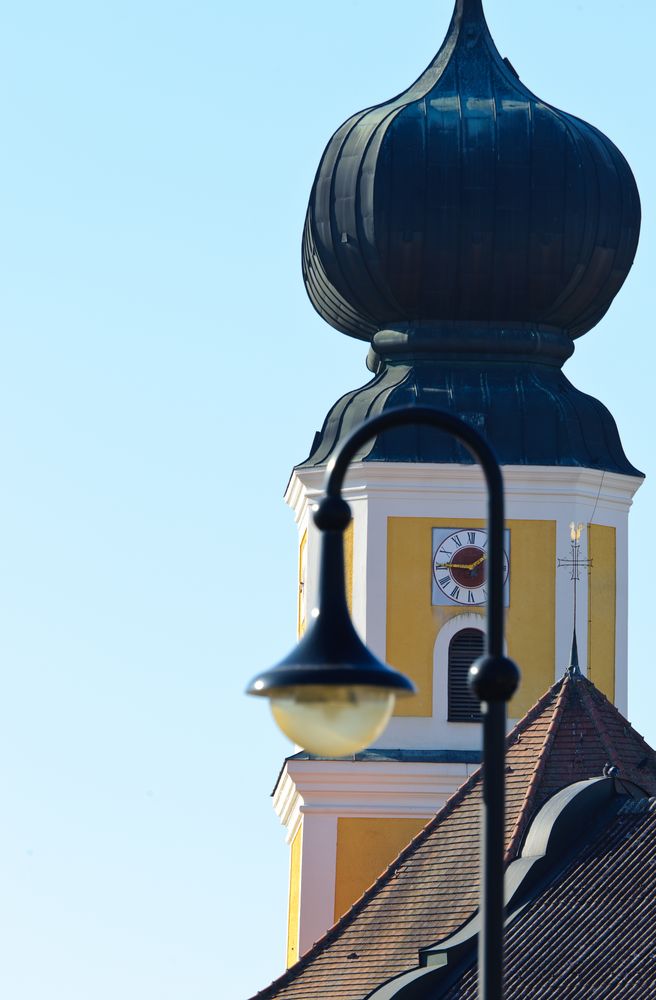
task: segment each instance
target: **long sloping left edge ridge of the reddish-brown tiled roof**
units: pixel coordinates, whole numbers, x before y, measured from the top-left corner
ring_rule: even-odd
[[[533,707],[528,710],[526,715],[522,719],[520,719],[519,722],[515,724],[515,726],[513,726],[511,731],[506,736],[506,750],[508,750],[513,745],[513,743],[516,742],[517,737],[521,735],[521,733],[523,733],[540,715],[540,713],[544,710],[545,706],[548,704],[549,700],[553,698],[556,689],[560,685],[562,685],[562,683],[563,683],[563,678],[556,681],[555,684],[552,684],[552,686],[547,691],[545,691],[542,697],[538,698]],[[428,820],[426,825],[419,831],[419,833],[417,833],[412,838],[412,840],[403,848],[403,850],[396,856],[394,861],[392,861],[387,866],[387,868],[383,872],[381,872],[381,874],[378,876],[375,882],[372,882],[369,888],[365,889],[365,891],[362,893],[359,899],[355,900],[355,902],[349,907],[346,913],[343,913],[342,916],[339,918],[339,920],[337,920],[332,925],[332,927],[329,927],[328,930],[317,941],[314,942],[312,947],[308,948],[308,950],[303,955],[301,955],[298,961],[296,961],[288,969],[285,969],[285,971],[281,973],[281,975],[278,976],[277,979],[274,979],[273,982],[269,983],[268,986],[265,986],[264,989],[259,990],[256,994],[254,994],[251,1000],[255,1000],[255,997],[259,997],[260,1000],[264,1000],[264,998],[269,996],[272,991],[280,989],[282,986],[285,986],[287,983],[295,979],[296,976],[299,975],[303,971],[303,969],[309,964],[309,962],[312,959],[316,958],[316,956],[319,955],[321,951],[327,945],[329,945],[330,942],[335,937],[337,937],[337,935],[341,933],[344,930],[344,928],[347,927],[355,919],[357,914],[369,902],[369,899],[375,896],[376,893],[382,888],[382,886],[394,876],[394,874],[399,870],[399,868],[402,867],[408,855],[414,853],[414,851],[417,850],[420,844],[424,840],[428,839],[433,830],[435,830],[438,826],[440,826],[451,815],[453,810],[458,805],[460,805],[462,800],[480,781],[481,771],[482,771],[482,765],[479,765],[476,768],[476,770],[473,771],[472,774],[470,774],[467,780],[464,781],[462,785],[460,785],[460,787],[456,789],[453,795],[451,795],[446,800],[444,805],[437,810],[435,815]]]

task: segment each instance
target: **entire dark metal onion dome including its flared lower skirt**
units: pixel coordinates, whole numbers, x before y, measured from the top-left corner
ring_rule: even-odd
[[[561,371],[633,262],[640,201],[610,139],[528,90],[481,0],[456,0],[442,48],[408,90],[334,134],[314,181],[303,274],[317,311],[370,342],[375,377],[340,399],[302,467],[367,416],[456,413],[507,465],[641,475],[613,417]],[[362,461],[469,462],[404,428]]]

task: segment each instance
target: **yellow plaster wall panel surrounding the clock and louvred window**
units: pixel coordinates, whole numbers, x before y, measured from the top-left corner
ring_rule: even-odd
[[[433,650],[442,626],[465,607],[431,604],[432,529],[481,528],[483,520],[459,517],[390,517],[387,522],[387,662],[408,674],[419,691],[399,699],[396,714],[430,716]],[[555,521],[507,521],[510,529],[509,655],[522,683],[508,707],[519,718],[554,680],[556,614]],[[481,616],[485,608],[476,609]]]

